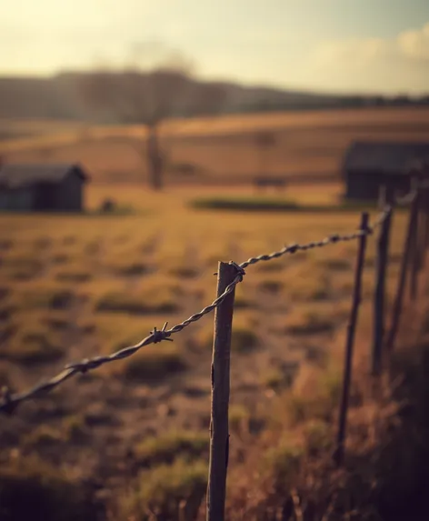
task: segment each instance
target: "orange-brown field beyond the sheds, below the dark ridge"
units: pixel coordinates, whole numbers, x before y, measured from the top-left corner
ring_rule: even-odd
[[[95,181],[145,182],[144,127],[0,121],[0,134],[2,129],[4,135],[14,133],[0,141],[0,154],[10,162],[79,161]],[[260,130],[275,135],[275,144],[264,158],[254,146],[254,134]],[[429,109],[371,108],[167,121],[161,135],[170,185],[248,184],[261,173],[261,162],[264,171],[275,175],[335,179],[354,139],[428,140]]]

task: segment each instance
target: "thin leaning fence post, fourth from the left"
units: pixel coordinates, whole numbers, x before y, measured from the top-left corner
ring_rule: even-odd
[[[399,322],[401,320],[401,312],[404,301],[404,290],[406,284],[406,275],[408,271],[409,259],[411,257],[411,245],[413,241],[413,234],[415,223],[417,221],[418,216],[418,201],[415,198],[411,210],[410,216],[408,219],[408,228],[405,235],[405,243],[404,243],[404,251],[401,260],[401,269],[399,272],[398,286],[396,289],[396,295],[394,296],[394,310],[392,314],[392,321],[390,324],[389,333],[387,335],[385,349],[387,352],[391,352],[394,349],[394,340],[399,328]]]

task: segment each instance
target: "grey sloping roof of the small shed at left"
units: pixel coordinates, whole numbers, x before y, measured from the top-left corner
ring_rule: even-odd
[[[18,188],[34,183],[58,183],[70,172],[79,175],[84,181],[88,179],[85,171],[77,164],[11,164],[0,166],[0,185]]]

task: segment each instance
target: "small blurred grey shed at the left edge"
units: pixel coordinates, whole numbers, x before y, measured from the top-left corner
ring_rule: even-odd
[[[0,210],[81,212],[88,180],[80,165],[1,165]]]

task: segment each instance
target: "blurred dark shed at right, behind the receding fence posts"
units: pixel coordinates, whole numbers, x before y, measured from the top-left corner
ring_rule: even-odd
[[[356,141],[344,156],[345,197],[377,200],[382,185],[407,192],[419,161],[429,161],[429,142]]]

